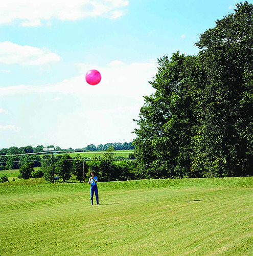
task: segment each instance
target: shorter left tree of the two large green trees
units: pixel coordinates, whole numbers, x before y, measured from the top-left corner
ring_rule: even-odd
[[[133,141],[142,178],[184,177],[190,168],[189,147],[194,114],[187,74],[195,58],[174,53],[158,59],[158,72],[150,82],[155,93],[145,96],[140,128]]]

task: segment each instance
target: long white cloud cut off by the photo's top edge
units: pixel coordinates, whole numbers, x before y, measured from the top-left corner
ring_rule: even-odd
[[[44,20],[79,20],[105,16],[118,18],[127,0],[9,0],[0,2],[0,24],[20,20],[21,26],[40,26]]]

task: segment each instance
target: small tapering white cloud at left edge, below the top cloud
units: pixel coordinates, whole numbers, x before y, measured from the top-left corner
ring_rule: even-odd
[[[60,56],[48,49],[20,46],[10,41],[0,42],[0,62],[20,65],[46,65],[60,61]]]

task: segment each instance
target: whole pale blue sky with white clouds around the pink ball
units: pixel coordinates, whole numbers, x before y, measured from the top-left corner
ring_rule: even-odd
[[[0,3],[0,148],[130,142],[157,58],[196,55],[234,0]],[[8,3],[7,3],[8,2]],[[248,1],[251,3],[251,1]],[[85,74],[97,69],[97,86]]]

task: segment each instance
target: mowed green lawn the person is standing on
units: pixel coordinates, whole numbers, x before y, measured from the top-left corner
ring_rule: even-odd
[[[1,185],[0,255],[253,255],[253,177],[100,182],[99,196]]]

